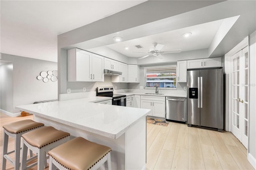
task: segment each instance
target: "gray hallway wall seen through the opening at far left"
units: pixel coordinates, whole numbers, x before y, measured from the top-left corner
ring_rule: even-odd
[[[0,66],[0,108],[13,112],[13,63]]]

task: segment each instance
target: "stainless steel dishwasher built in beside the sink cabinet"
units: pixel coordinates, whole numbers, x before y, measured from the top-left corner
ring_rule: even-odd
[[[185,97],[166,97],[166,120],[187,121],[187,100]]]

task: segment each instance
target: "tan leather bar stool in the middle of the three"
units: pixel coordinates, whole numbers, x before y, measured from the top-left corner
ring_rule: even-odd
[[[22,162],[21,169],[27,169],[34,166],[36,163],[27,167],[27,149],[38,154],[38,169],[47,167],[46,154],[52,148],[59,146],[69,141],[70,134],[57,130],[52,126],[44,126],[43,128],[36,129],[22,135]]]

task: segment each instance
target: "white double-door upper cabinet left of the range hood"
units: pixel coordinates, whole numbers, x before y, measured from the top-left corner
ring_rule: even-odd
[[[69,82],[104,82],[104,57],[80,49],[68,50]]]

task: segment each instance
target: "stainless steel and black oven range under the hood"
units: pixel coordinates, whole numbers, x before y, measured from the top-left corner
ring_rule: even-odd
[[[97,87],[96,96],[112,97],[112,105],[121,105],[126,107],[126,95],[117,95],[113,93],[114,87]]]

